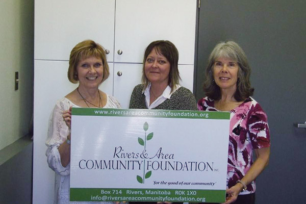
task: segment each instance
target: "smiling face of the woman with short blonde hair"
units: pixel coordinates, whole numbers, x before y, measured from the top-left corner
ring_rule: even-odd
[[[80,86],[97,88],[103,80],[103,62],[96,57],[89,57],[79,61],[77,66]]]

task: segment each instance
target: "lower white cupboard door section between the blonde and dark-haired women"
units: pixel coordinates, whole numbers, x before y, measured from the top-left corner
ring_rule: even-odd
[[[129,108],[132,91],[141,83],[141,76],[142,64],[114,64],[114,96],[122,108]]]

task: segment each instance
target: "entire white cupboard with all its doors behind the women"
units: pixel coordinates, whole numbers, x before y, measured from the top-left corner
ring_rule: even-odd
[[[129,106],[140,83],[145,47],[170,40],[179,50],[181,84],[193,90],[197,0],[36,0],[33,203],[53,203],[46,163],[48,119],[57,99],[77,87],[67,79],[73,46],[92,39],[108,49],[110,77],[100,89]],[[122,54],[118,54],[118,50]]]

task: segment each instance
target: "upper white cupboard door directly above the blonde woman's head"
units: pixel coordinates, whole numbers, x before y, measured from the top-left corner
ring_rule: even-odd
[[[35,1],[35,53],[38,60],[69,60],[71,49],[91,39],[109,49],[113,61],[115,1]]]

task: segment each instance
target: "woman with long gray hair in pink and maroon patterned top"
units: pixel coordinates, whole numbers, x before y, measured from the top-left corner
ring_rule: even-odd
[[[231,112],[225,203],[255,203],[255,179],[269,162],[267,115],[251,97],[254,89],[249,78],[250,66],[242,48],[233,41],[218,43],[206,69],[206,97],[197,106],[202,111]]]

